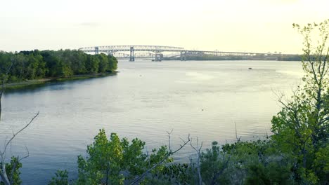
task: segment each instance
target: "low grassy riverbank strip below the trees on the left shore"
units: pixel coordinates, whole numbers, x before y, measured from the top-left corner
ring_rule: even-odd
[[[13,89],[25,88],[27,86],[42,85],[44,83],[53,83],[53,82],[58,82],[58,81],[75,81],[75,80],[82,80],[82,79],[86,79],[86,78],[112,76],[117,73],[118,73],[118,71],[111,72],[111,73],[80,74],[80,75],[73,75],[73,76],[67,76],[67,77],[61,76],[61,77],[56,77],[56,78],[41,78],[41,79],[27,80],[27,81],[22,81],[22,82],[17,82],[17,83],[6,83],[4,85],[4,87],[8,90],[13,90]]]

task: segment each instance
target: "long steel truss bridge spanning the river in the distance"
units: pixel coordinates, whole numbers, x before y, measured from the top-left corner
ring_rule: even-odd
[[[124,45],[124,46],[93,46],[79,48],[85,53],[107,53],[108,55],[116,55],[117,57],[129,58],[129,61],[134,61],[135,58],[153,58],[154,61],[161,61],[163,53],[176,53],[169,57],[180,57],[181,60],[186,60],[188,56],[269,56],[277,57],[283,55],[281,53],[250,53],[250,52],[227,52],[227,51],[209,51],[209,50],[185,50],[180,47],[172,46],[143,46],[143,45]],[[137,53],[135,53],[137,52]],[[179,53],[177,55],[177,53]]]

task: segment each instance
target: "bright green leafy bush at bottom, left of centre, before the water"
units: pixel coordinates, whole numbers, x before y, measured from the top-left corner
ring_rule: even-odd
[[[78,157],[79,177],[77,184],[124,184],[136,176],[143,174],[148,168],[166,158],[166,146],[154,149],[148,156],[143,151],[145,142],[127,138],[120,139],[115,133],[108,138],[104,130],[100,130],[93,144],[87,147],[88,157]],[[157,165],[152,172],[159,172],[164,164]]]

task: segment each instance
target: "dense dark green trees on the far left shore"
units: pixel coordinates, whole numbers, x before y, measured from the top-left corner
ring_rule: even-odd
[[[4,74],[11,62],[13,67],[7,82],[113,72],[117,69],[115,57],[103,53],[88,55],[81,50],[0,52],[1,74]]]

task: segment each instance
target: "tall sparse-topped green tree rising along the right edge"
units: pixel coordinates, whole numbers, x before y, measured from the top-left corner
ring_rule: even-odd
[[[273,140],[294,159],[294,179],[299,184],[325,184],[329,177],[329,20],[294,27],[304,36],[304,85],[290,100],[280,100],[283,109],[272,120]]]

